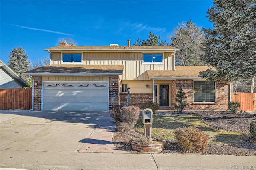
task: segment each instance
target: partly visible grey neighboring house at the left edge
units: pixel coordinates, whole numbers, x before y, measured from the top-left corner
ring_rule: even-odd
[[[23,87],[30,86],[8,67],[8,65],[0,60],[0,89],[21,89]]]

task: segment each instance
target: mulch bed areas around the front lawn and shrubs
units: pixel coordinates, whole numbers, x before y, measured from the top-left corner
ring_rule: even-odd
[[[174,112],[165,112],[174,113]],[[177,113],[177,112],[175,112]],[[208,148],[200,154],[221,154],[221,155],[256,155],[256,143],[250,140],[250,122],[256,121],[256,114],[244,113],[242,115],[230,114],[223,111],[187,111],[185,114],[191,114],[203,117],[202,121],[212,127],[234,132],[241,132],[246,136],[247,140],[240,141],[238,144],[208,144]],[[122,150],[131,153],[137,153],[132,150],[132,138],[138,136],[140,132],[136,130],[128,130],[126,132],[114,132],[112,142]],[[154,139],[154,138],[152,138]],[[161,152],[164,154],[186,154],[176,141],[166,140],[166,146]]]

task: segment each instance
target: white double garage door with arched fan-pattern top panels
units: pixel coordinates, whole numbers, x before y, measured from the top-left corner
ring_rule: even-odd
[[[108,82],[44,83],[43,110],[108,110]]]

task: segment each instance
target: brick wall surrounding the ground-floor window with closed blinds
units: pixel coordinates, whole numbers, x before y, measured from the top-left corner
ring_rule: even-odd
[[[187,87],[182,87],[184,84],[186,84]],[[186,101],[189,103],[189,106],[185,107],[187,110],[228,110],[230,97],[228,81],[216,83],[216,103],[193,103],[193,80],[176,80],[176,93],[179,87],[182,87],[183,91],[186,93]],[[231,88],[233,88],[233,86]]]

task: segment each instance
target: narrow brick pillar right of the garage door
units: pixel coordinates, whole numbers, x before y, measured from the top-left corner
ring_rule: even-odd
[[[118,77],[109,77],[109,110],[111,110],[115,105],[119,105],[120,97],[118,83]]]

